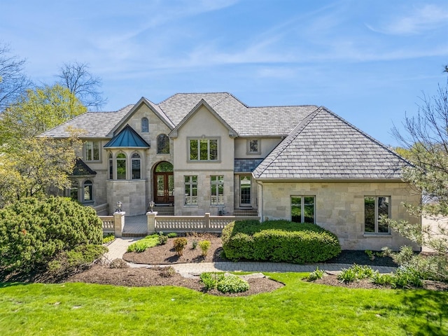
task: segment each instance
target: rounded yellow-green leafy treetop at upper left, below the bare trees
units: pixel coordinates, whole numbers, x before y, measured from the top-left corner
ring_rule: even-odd
[[[13,148],[24,139],[37,137],[85,111],[85,106],[61,85],[29,89],[3,111],[0,144]],[[3,146],[3,151],[7,148]]]

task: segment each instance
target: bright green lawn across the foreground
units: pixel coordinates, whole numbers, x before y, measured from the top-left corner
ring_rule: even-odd
[[[448,293],[362,290],[271,274],[272,293],[0,284],[0,335],[448,335]]]

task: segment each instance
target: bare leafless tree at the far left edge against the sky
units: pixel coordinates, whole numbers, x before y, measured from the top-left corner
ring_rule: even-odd
[[[25,59],[10,55],[7,45],[0,45],[0,113],[31,85],[23,73]]]

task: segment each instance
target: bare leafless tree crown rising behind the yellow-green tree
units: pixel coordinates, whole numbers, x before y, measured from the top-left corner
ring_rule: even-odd
[[[103,99],[103,92],[99,91],[102,80],[90,73],[87,64],[65,63],[57,77],[59,77],[59,84],[67,87],[88,109],[99,110],[106,104],[107,99]]]

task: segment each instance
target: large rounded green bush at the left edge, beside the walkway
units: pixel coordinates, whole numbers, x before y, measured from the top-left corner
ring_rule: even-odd
[[[94,209],[65,197],[25,198],[0,210],[0,269],[47,268],[58,253],[102,239]]]

